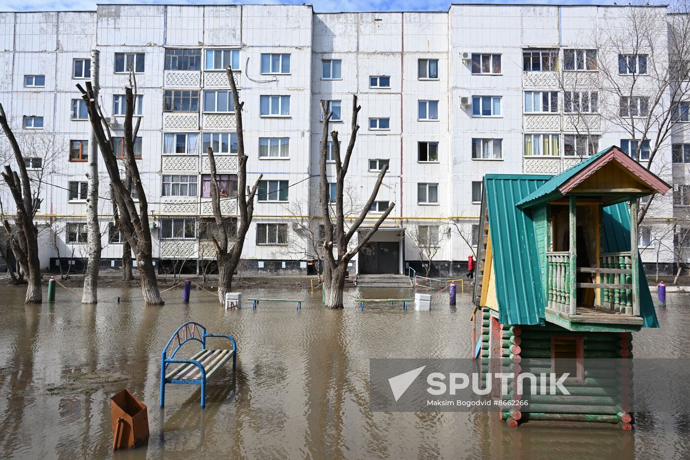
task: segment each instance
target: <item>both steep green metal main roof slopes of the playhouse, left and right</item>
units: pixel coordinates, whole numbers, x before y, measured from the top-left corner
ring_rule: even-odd
[[[545,184],[558,177],[531,174],[484,176],[493,276],[499,319],[503,324],[532,325],[541,323],[544,318],[544,280],[532,211],[522,210],[517,204],[526,197],[535,195]],[[606,252],[630,250],[630,213],[627,203],[604,208],[603,244]],[[640,316],[644,318],[643,327],[659,327],[641,261]]]

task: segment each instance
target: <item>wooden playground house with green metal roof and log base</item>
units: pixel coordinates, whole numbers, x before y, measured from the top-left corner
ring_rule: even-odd
[[[632,333],[659,327],[638,255],[638,199],[669,189],[615,146],[555,176],[484,177],[473,328],[481,322],[482,370],[499,372],[499,362],[517,378],[541,360],[542,372],[572,376],[571,394],[558,397],[517,394],[513,381],[504,399],[529,405],[504,408],[509,425],[631,428]]]

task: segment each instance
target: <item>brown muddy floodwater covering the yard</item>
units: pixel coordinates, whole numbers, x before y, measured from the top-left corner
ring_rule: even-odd
[[[638,414],[635,430],[524,425],[497,414],[371,412],[369,358],[467,358],[471,305],[434,296],[431,312],[353,302],[328,311],[308,289],[240,289],[245,298],[306,299],[224,312],[215,295],[164,293],[145,307],[138,289],[100,289],[82,306],[63,289],[58,301],[23,305],[21,287],[0,298],[0,457],[104,458],[113,455],[110,396],[128,388],[148,406],[150,439],[116,458],[253,459],[669,459],[687,458],[690,420]],[[80,289],[77,289],[80,291]],[[351,296],[395,298],[411,289],[362,289]],[[45,294],[44,294],[45,296]],[[130,300],[131,299],[131,300]],[[690,304],[671,296],[661,329],[635,334],[635,356],[689,357]],[[198,385],[168,385],[158,408],[161,349],[179,325],[195,320],[237,339],[237,372],[228,363],[210,381],[206,409]],[[196,345],[196,346],[195,346]],[[195,348],[196,343],[187,347]],[[188,356],[188,355],[186,355]],[[690,395],[688,395],[690,397]]]

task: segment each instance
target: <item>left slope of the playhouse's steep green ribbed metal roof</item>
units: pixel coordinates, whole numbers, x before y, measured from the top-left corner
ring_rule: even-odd
[[[503,324],[538,324],[544,318],[542,271],[531,212],[522,211],[517,203],[552,177],[484,176],[496,298]]]

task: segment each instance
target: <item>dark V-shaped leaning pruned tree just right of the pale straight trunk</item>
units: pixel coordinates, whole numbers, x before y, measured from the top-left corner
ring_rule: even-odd
[[[120,177],[117,157],[113,151],[110,128],[103,117],[98,99],[94,95],[90,82],[86,84],[86,90],[81,85],[77,85],[77,88],[81,91],[81,97],[86,102],[89,121],[96,135],[103,162],[106,164],[110,184],[112,184],[113,196],[119,213],[117,220],[119,231],[122,232],[122,236],[132,247],[137,258],[139,282],[141,283],[141,292],[144,294],[144,300],[147,305],[163,305],[156,279],[156,271],[153,267],[152,238],[148,223],[148,200],[146,199],[144,186],[141,183],[139,167],[135,160],[135,136],[137,130],[132,126],[136,99],[135,86],[133,87],[130,82],[125,87],[124,150],[127,167],[132,177],[132,185],[137,191],[138,209],[137,204],[132,199],[130,193],[128,193]],[[140,122],[141,118],[137,121],[137,129]]]

